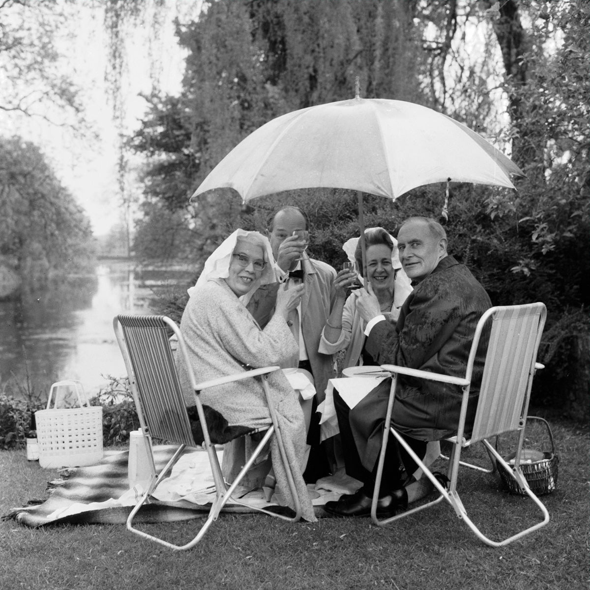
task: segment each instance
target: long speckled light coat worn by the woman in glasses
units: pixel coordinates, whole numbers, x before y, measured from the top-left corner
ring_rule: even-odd
[[[283,317],[275,314],[261,330],[222,278],[212,278],[192,290],[180,327],[197,381],[240,373],[245,365],[252,368],[280,365],[286,357],[297,353],[297,343]],[[187,404],[192,404],[192,389],[180,356],[177,362]],[[287,459],[291,466],[300,467],[306,448],[306,429],[299,401],[283,372],[271,373],[268,385]],[[255,378],[206,389],[201,393],[201,400],[220,412],[230,425],[261,427],[270,424],[264,391]],[[271,458],[277,493],[293,507],[286,472],[280,461],[274,460],[278,456],[278,444],[273,437]],[[302,515],[314,522],[316,517],[300,469],[294,469],[294,479]]]

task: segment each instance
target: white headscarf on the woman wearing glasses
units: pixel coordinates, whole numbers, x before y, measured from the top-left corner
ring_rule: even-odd
[[[274,274],[274,257],[273,249],[270,246],[268,238],[257,231],[245,231],[235,230],[233,234],[225,238],[221,242],[221,245],[217,247],[214,253],[207,258],[205,266],[195,283],[194,287],[188,290],[189,296],[191,296],[196,289],[205,284],[210,278],[227,278],[230,276],[230,263],[231,255],[234,253],[235,245],[238,243],[238,238],[247,238],[257,244],[260,244],[264,250],[264,260],[266,261],[266,267],[262,271],[260,278],[254,283],[248,293],[242,295],[239,299],[246,305],[250,301],[250,297],[255,290],[261,285],[267,285],[270,283],[276,283],[277,279]]]

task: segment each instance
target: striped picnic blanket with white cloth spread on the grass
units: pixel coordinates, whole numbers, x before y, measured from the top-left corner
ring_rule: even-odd
[[[154,445],[156,471],[162,470],[177,448],[175,445]],[[14,508],[2,519],[14,519],[30,527],[61,523],[125,523],[143,493],[140,486],[129,489],[128,460],[129,451],[106,451],[103,460],[96,465],[64,468],[59,472],[60,480],[48,483],[50,496],[47,500],[42,503],[32,501],[32,505]],[[142,506],[135,520],[138,523],[154,523],[203,517],[211,508],[212,494],[213,477],[207,453],[187,448],[171,475],[156,489],[157,499],[152,498]],[[318,497],[312,502],[316,516],[326,516],[323,504],[340,496],[328,490],[317,490],[315,495]],[[282,508],[273,501],[274,496],[269,502],[261,492],[247,494],[242,500],[248,501],[251,506],[271,510],[273,507],[276,510]],[[224,512],[256,511],[230,500]]]

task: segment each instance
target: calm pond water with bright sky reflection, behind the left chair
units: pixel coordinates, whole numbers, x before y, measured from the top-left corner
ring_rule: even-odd
[[[185,287],[189,276],[101,263],[94,275],[69,277],[19,301],[0,301],[0,392],[26,391],[28,379],[30,390],[47,398],[51,383],[78,379],[84,391],[96,394],[106,375],[126,374],[113,317],[156,312],[150,301],[158,289]]]

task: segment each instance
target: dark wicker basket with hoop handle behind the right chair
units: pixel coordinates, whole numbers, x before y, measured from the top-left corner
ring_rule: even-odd
[[[551,432],[548,422],[537,416],[529,416],[527,417],[527,424],[529,424],[530,420],[540,421],[546,426],[549,433],[551,450],[542,451],[535,448],[523,448],[520,453],[520,468],[531,491],[537,496],[542,496],[543,494],[550,494],[555,490],[557,485],[559,458],[555,454],[555,441],[553,440],[553,432]],[[496,440],[496,448],[498,448],[499,438],[500,437]],[[511,461],[512,464],[514,464],[514,457],[516,457],[516,451],[504,457],[504,460],[509,465],[511,464]],[[526,492],[520,489],[516,480],[510,476],[506,468],[500,464],[498,465],[498,473],[504,483],[504,487],[506,487],[509,493],[526,496]]]

